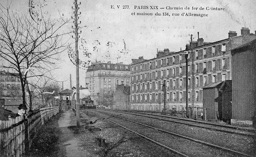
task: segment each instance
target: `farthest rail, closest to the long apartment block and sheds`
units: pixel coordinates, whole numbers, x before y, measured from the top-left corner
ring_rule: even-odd
[[[118,112],[118,111],[116,111],[116,112]],[[123,111],[123,112],[132,112],[132,111]],[[239,128],[239,127],[235,127],[235,126],[227,126],[227,125],[221,125],[221,124],[199,122],[199,121],[194,121],[194,120],[190,120],[190,119],[182,119],[182,118],[177,118],[177,117],[169,117],[169,116],[155,115],[155,114],[142,113],[142,112],[132,112],[132,113],[140,113],[140,114],[146,114],[146,115],[154,115],[154,116],[161,116],[161,117],[179,119],[179,120],[190,121],[190,122],[204,123],[204,124],[209,124],[209,125],[214,125],[214,126],[221,126],[221,127],[230,128],[230,129],[236,129],[236,130],[241,130],[241,131],[248,131],[248,132],[255,132],[256,131],[256,130],[252,130],[252,129],[244,129],[244,128]]]

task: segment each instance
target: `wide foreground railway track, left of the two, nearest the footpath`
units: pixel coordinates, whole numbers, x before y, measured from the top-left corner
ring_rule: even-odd
[[[89,111],[92,112],[92,111]],[[98,112],[95,113],[95,112]],[[201,140],[186,137],[177,133],[163,130],[161,128],[156,128],[143,123],[135,122],[129,119],[125,119],[120,116],[102,112],[99,110],[93,110],[93,114],[100,116],[116,125],[127,129],[147,140],[164,147],[172,151],[173,153],[179,154],[181,156],[250,156],[245,153],[234,151],[225,147],[213,145]],[[99,115],[104,114],[110,117]],[[117,120],[118,118],[118,120]],[[113,120],[110,120],[113,119]],[[171,136],[174,135],[174,136]],[[199,144],[198,144],[199,143]],[[203,144],[200,145],[200,144]],[[225,154],[222,153],[225,151]],[[210,153],[209,153],[210,152]],[[222,154],[221,154],[222,153]]]

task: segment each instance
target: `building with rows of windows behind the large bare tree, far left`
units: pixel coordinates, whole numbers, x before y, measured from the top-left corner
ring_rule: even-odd
[[[22,103],[22,89],[18,73],[0,72],[0,98],[4,99],[4,108],[18,111]]]

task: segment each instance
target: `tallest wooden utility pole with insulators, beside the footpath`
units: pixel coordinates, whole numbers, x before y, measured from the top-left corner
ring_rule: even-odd
[[[78,11],[78,4],[77,0],[74,2],[75,4],[75,51],[76,51],[76,125],[80,126],[80,100],[79,100],[79,54],[78,54],[78,23],[77,23],[77,11]],[[81,2],[80,2],[81,4]],[[79,4],[79,5],[80,5]],[[73,9],[73,7],[72,7]],[[81,14],[81,12],[80,12]],[[80,15],[79,14],[79,15]],[[72,17],[71,17],[72,18]],[[80,21],[81,24],[81,21]],[[81,31],[80,31],[81,33]]]

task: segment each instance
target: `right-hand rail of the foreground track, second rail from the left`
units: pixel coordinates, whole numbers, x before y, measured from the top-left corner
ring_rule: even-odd
[[[108,114],[108,113],[105,113],[105,112],[102,112],[102,111],[97,111],[97,112],[101,112],[101,113],[104,113],[104,114]],[[111,114],[108,114],[108,115],[111,115]],[[111,115],[111,116],[115,116],[115,115]],[[165,132],[165,133],[169,133],[169,134],[172,134],[172,135],[181,137],[181,138],[189,139],[189,140],[191,140],[191,141],[195,141],[195,142],[198,142],[198,143],[207,145],[207,146],[212,146],[212,147],[215,147],[215,148],[219,148],[219,149],[221,149],[221,150],[226,150],[226,151],[229,151],[229,152],[232,152],[232,153],[236,153],[236,154],[239,154],[239,155],[243,155],[243,156],[251,156],[251,155],[248,155],[248,154],[244,154],[244,153],[241,153],[241,152],[234,151],[234,150],[232,150],[232,149],[228,149],[228,148],[225,148],[225,147],[213,145],[213,144],[211,144],[211,143],[207,143],[207,142],[204,142],[204,141],[200,141],[200,140],[197,140],[197,139],[194,139],[194,138],[189,138],[189,137],[187,137],[187,136],[183,136],[183,135],[176,134],[176,133],[173,133],[173,132],[170,132],[170,131],[165,131],[165,130],[162,130],[162,129],[159,129],[159,128],[155,128],[155,127],[148,126],[148,125],[145,125],[145,124],[142,124],[142,123],[138,123],[138,122],[135,122],[135,121],[132,121],[132,120],[129,120],[129,119],[125,119],[125,118],[119,117],[119,116],[115,116],[115,117],[124,119],[124,120],[126,120],[126,121],[130,121],[130,122],[133,122],[133,123],[136,123],[136,124],[140,124],[140,125],[146,126],[146,127],[148,127],[148,128],[152,128],[152,129],[156,129],[156,130],[159,130],[159,131],[162,131],[162,132]]]

